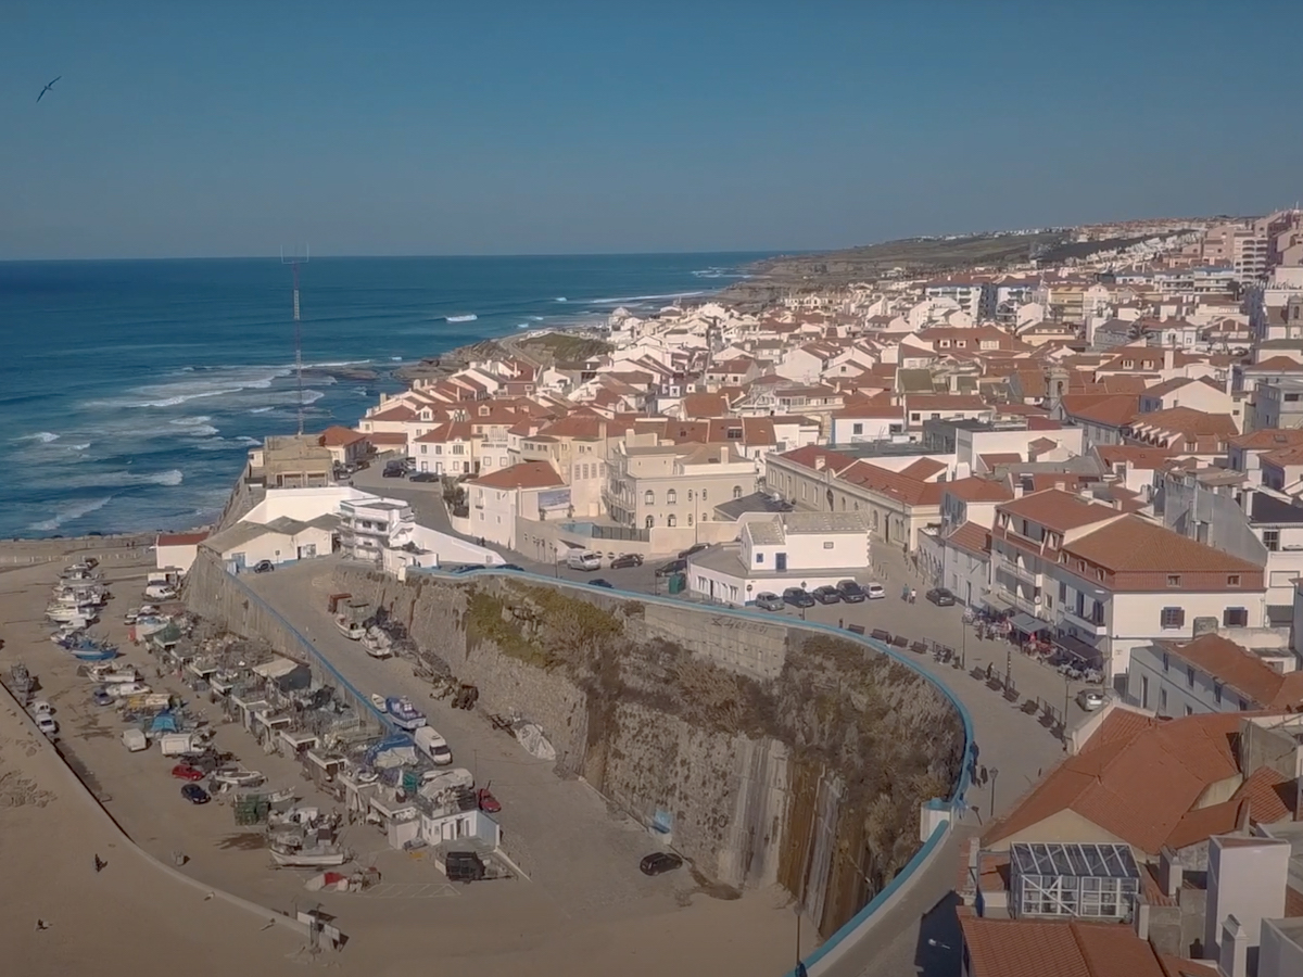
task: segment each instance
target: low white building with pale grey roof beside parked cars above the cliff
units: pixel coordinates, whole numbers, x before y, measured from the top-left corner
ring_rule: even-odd
[[[869,567],[869,528],[857,512],[744,515],[736,543],[688,559],[688,589],[735,606],[787,588],[833,585]]]

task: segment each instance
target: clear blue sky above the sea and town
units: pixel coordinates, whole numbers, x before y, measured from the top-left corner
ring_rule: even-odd
[[[1267,0],[9,0],[0,259],[800,250],[1264,212],[1303,195],[1267,60],[1300,26]]]

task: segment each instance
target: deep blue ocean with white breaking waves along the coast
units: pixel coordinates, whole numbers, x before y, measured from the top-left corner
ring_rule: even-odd
[[[481,339],[652,311],[764,254],[313,258],[305,430],[352,426],[391,371]],[[278,258],[0,263],[0,538],[211,522],[250,446],[297,429]],[[322,369],[380,374],[351,380]]]

